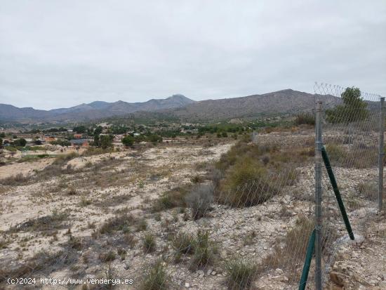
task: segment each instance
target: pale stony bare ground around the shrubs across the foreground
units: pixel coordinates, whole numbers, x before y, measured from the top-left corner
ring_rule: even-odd
[[[291,136],[287,143],[286,136]],[[293,146],[313,143],[312,132],[298,133],[298,139],[293,136],[273,132],[258,140],[281,140]],[[240,209],[213,204],[208,214],[198,220],[190,218],[189,209],[153,209],[154,202],[168,190],[207,183],[211,163],[233,144],[227,140],[213,146],[204,142],[157,145],[75,157],[58,165],[53,159],[44,159],[0,167],[1,172],[28,171],[32,176],[8,181],[0,188],[0,276],[7,277],[11,272],[56,279],[119,277],[133,279],[132,289],[139,289],[149,265],[162,257],[170,289],[232,289],[227,283],[227,263],[244,259],[271,265],[259,272],[251,289],[297,289],[303,257],[279,253],[277,246],[296,246],[296,241],[288,241],[288,232],[296,228],[299,217],[313,216],[312,162],[298,167],[296,183],[256,206]],[[50,164],[56,167],[49,167]],[[58,166],[60,173],[56,174]],[[359,183],[374,180],[376,171],[335,167],[335,174],[358,239],[345,239],[333,193],[325,182],[325,214],[330,231],[326,235],[333,237],[324,250],[326,289],[386,289],[385,216],[375,210],[373,195],[368,194],[371,187],[366,192],[359,190]],[[100,230],[110,218],[121,216],[126,218],[126,228]],[[211,263],[198,268],[192,267],[194,258],[190,255],[175,261],[171,244],[179,232],[196,235],[197,230],[208,230],[213,241]],[[149,233],[157,244],[154,251],[144,251],[142,246]],[[300,232],[295,238],[299,243],[307,242],[309,234]],[[297,251],[293,249],[294,253]],[[283,265],[273,263],[278,258]],[[309,289],[313,289],[313,270],[314,265]],[[18,289],[6,281],[0,285]],[[52,285],[36,287],[54,289]],[[62,287],[86,289],[80,285]]]

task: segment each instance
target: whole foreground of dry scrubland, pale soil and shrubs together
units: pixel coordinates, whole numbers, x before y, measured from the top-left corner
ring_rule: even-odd
[[[0,181],[0,285],[18,289],[8,277],[74,277],[133,279],[129,288],[150,290],[296,289],[314,228],[313,134],[300,126],[260,133],[253,142],[248,135],[202,137],[1,166],[7,175]],[[363,239],[360,245],[342,239],[345,228],[336,223],[340,213],[324,183],[326,285],[351,289],[352,279],[335,279],[350,277],[335,263],[352,260],[349,252],[370,261],[363,272],[351,270],[361,281],[354,286],[382,287],[386,264],[361,253],[361,246],[386,245],[385,219],[374,206],[376,163],[342,157],[368,157],[372,147],[329,143]]]

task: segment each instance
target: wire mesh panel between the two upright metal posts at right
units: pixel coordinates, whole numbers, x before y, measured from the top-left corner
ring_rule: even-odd
[[[380,95],[330,84],[315,84],[314,92],[323,103],[324,147],[354,237],[361,239],[378,209]],[[322,249],[323,278],[327,282],[335,253],[349,235],[325,166],[322,186],[323,231],[331,241]]]

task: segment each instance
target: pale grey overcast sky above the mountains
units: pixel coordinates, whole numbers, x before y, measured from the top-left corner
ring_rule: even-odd
[[[386,1],[1,0],[0,103],[386,96]]]

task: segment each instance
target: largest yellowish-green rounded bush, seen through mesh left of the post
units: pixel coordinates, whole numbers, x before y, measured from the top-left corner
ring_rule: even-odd
[[[254,206],[298,180],[296,166],[307,161],[297,150],[277,145],[240,142],[220,157],[213,178],[218,202],[230,206]],[[216,179],[216,180],[214,180]]]

